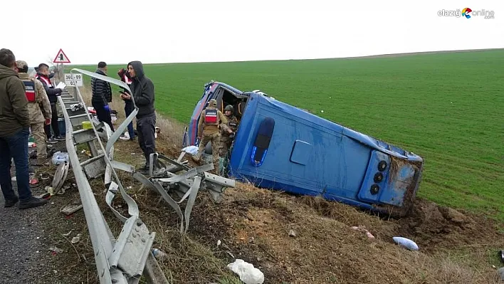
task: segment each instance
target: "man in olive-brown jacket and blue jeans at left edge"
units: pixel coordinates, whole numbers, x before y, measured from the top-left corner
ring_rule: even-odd
[[[5,207],[19,209],[46,204],[45,199],[31,195],[28,172],[28,135],[30,114],[23,81],[16,73],[16,57],[9,49],[0,49],[0,187]],[[19,197],[11,184],[11,159],[16,165],[16,183]]]

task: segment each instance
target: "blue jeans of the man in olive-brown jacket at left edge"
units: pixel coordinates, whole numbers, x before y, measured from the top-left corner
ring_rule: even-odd
[[[10,137],[0,137],[0,186],[4,199],[15,199],[11,183],[11,159],[16,165],[16,182],[20,200],[31,198],[30,174],[28,172],[29,128],[23,128]]]

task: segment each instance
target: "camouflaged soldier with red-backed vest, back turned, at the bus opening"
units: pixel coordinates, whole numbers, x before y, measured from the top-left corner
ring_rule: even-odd
[[[219,142],[221,139],[220,125],[227,124],[228,120],[220,110],[217,110],[217,101],[211,99],[209,105],[199,115],[198,122],[198,140],[199,148],[196,157],[193,157],[195,162],[201,162],[201,153],[205,149],[208,142],[211,142],[211,154],[214,167],[218,170],[217,162],[219,160]]]

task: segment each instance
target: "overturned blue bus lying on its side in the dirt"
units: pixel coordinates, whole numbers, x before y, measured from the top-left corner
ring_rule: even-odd
[[[362,209],[404,216],[421,182],[418,155],[280,102],[260,91],[205,85],[189,124],[196,145],[199,115],[214,98],[240,120],[229,177],[258,187],[321,196]],[[206,147],[211,151],[211,147]]]

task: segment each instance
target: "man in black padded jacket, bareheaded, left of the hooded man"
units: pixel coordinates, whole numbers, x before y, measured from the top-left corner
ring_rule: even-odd
[[[98,69],[96,73],[100,75],[107,75],[107,63],[98,63]],[[110,130],[114,131],[114,125],[112,125],[112,117],[110,117],[110,107],[109,102],[112,102],[112,88],[110,88],[110,83],[97,78],[91,78],[91,90],[93,91],[93,98],[91,98],[91,104],[95,107],[96,115],[98,120],[107,123],[110,126]]]

